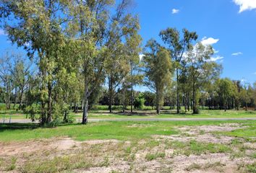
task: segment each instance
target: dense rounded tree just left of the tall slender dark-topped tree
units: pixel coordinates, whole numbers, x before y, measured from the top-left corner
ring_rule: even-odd
[[[156,112],[160,114],[160,107],[163,105],[164,90],[171,82],[171,58],[165,48],[156,43],[155,40],[148,41],[143,62],[145,63],[145,84],[156,95]]]

